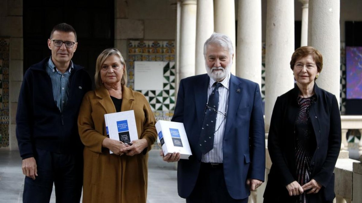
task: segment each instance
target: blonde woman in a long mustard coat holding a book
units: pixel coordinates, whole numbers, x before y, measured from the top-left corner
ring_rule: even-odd
[[[97,59],[96,90],[83,99],[78,117],[84,148],[84,203],[146,203],[147,152],[156,141],[155,117],[146,98],[126,87],[121,53],[105,49]],[[128,145],[107,137],[104,115],[134,110],[138,140]],[[114,154],[109,154],[111,150]]]

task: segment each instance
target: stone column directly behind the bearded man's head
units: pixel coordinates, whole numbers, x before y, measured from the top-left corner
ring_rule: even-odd
[[[214,26],[216,33],[226,34],[230,37],[234,48],[233,64],[231,73],[236,74],[236,39],[235,39],[235,1],[234,0],[214,0]]]

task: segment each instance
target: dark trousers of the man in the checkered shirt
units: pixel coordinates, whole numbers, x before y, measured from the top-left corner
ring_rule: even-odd
[[[55,185],[56,203],[79,203],[83,185],[83,155],[37,149],[38,176],[25,177],[23,203],[49,203]]]

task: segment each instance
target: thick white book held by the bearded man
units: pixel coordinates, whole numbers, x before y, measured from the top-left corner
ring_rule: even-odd
[[[180,159],[189,159],[192,153],[183,123],[157,121],[156,130],[164,155],[180,152]]]

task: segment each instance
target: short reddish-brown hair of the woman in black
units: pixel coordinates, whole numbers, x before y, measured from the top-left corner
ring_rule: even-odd
[[[290,68],[292,70],[294,70],[294,64],[295,61],[306,57],[308,55],[311,55],[313,57],[313,60],[315,61],[316,65],[317,65],[317,71],[318,73],[320,73],[322,71],[323,68],[323,57],[321,55],[321,53],[315,49],[314,47],[299,47],[298,49],[295,49],[292,58],[290,60]]]

